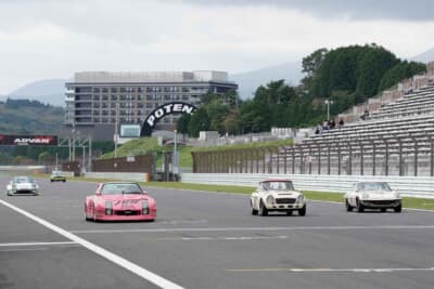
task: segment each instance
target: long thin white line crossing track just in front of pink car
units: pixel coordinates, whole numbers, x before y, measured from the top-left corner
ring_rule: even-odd
[[[293,227],[177,227],[177,228],[131,228],[131,229],[75,229],[77,234],[111,233],[170,233],[170,232],[241,232],[241,231],[344,231],[344,229],[432,229],[434,225],[391,226],[293,226]]]

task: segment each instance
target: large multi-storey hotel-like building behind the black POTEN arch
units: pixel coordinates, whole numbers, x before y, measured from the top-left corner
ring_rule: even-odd
[[[76,73],[66,84],[66,126],[81,135],[113,140],[116,123],[141,124],[156,107],[178,101],[199,104],[208,92],[237,90],[224,71]],[[117,110],[117,111],[116,111]],[[163,118],[156,129],[174,129],[180,115]],[[116,119],[117,118],[117,119]]]

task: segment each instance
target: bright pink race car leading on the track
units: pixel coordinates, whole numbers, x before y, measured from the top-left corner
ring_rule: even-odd
[[[86,197],[86,221],[154,221],[156,203],[138,183],[111,182],[99,184]]]

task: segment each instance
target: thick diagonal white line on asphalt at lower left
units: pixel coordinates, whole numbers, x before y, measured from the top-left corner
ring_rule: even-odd
[[[50,222],[48,222],[48,221],[46,221],[46,220],[43,220],[43,219],[41,219],[39,216],[36,216],[36,215],[34,215],[34,214],[31,214],[31,213],[29,213],[29,212],[27,212],[27,211],[25,211],[23,209],[20,209],[18,207],[15,207],[15,206],[13,206],[13,205],[4,201],[4,200],[1,200],[1,199],[0,199],[0,203],[2,203],[5,207],[11,208],[12,210],[14,210],[14,211],[16,211],[16,212],[18,212],[18,213],[31,219],[31,220],[34,220],[35,222],[37,222],[37,223],[39,223],[39,224],[41,224],[43,226],[54,231],[55,233],[64,236],[65,238],[71,239],[72,241],[75,241],[75,242],[81,245],[82,247],[89,249],[90,251],[92,251],[92,252],[94,252],[94,253],[107,259],[108,261],[111,261],[111,262],[113,262],[113,263],[115,263],[115,264],[117,264],[117,265],[119,265],[119,266],[132,272],[133,274],[142,277],[143,279],[145,279],[145,280],[148,280],[150,283],[155,284],[156,286],[158,286],[161,288],[165,288],[165,289],[183,289],[181,286],[179,286],[179,285],[177,285],[175,283],[171,283],[170,280],[167,280],[167,279],[165,279],[165,278],[163,278],[163,277],[161,277],[161,276],[158,276],[158,275],[156,275],[156,274],[143,268],[143,267],[140,267],[139,265],[137,265],[137,264],[135,264],[135,263],[132,263],[132,262],[130,262],[130,261],[128,261],[128,260],[126,260],[126,259],[124,259],[124,258],[111,252],[111,251],[107,251],[107,250],[105,250],[104,248],[102,248],[102,247],[100,247],[98,245],[94,245],[94,244],[92,244],[92,242],[90,242],[90,241],[88,241],[88,240],[86,240],[84,238],[80,238],[80,237],[78,237],[77,235],[74,235],[71,232],[67,232],[67,231],[65,231],[65,229],[63,229],[63,228],[61,228],[61,227],[59,227],[59,226],[56,226],[54,224],[51,224]]]

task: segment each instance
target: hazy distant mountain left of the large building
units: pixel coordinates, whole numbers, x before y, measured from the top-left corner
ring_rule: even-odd
[[[7,97],[35,100],[54,106],[65,106],[65,82],[67,81],[67,79],[35,81],[1,96],[0,100],[4,101]]]

